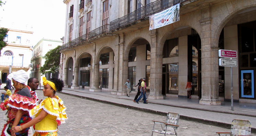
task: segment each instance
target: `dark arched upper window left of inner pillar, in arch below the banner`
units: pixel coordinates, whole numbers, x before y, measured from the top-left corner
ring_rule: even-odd
[[[166,40],[163,48],[163,58],[176,57],[179,55],[178,38]]]

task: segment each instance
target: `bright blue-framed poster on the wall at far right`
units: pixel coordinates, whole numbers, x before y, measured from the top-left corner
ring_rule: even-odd
[[[241,70],[241,97],[254,98],[253,70]]]

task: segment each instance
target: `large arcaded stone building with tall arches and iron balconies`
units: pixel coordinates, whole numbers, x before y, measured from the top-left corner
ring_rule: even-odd
[[[64,0],[60,77],[66,87],[125,95],[147,78],[149,99],[185,97],[216,105],[231,100],[230,67],[218,50],[236,50],[234,101],[256,103],[256,3],[248,0]],[[149,15],[180,3],[179,21],[149,30]],[[174,86],[176,84],[176,87]]]

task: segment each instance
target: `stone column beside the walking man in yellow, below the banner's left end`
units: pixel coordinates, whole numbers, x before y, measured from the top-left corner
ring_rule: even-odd
[[[162,95],[163,53],[157,45],[156,29],[151,30],[150,94],[149,99],[164,99]]]

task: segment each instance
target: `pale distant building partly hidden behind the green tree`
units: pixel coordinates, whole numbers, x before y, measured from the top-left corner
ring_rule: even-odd
[[[35,77],[39,81],[40,85],[43,85],[43,76],[40,72],[40,68],[45,63],[45,54],[56,48],[57,46],[62,45],[61,40],[51,40],[51,39],[41,39],[33,47],[33,53],[31,58],[32,70],[30,77]]]

